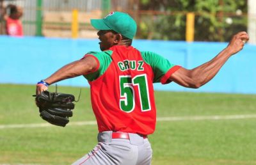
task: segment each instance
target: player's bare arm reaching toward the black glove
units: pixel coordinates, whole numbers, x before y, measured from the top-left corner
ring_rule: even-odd
[[[79,75],[89,74],[96,68],[97,61],[91,56],[86,56],[84,59],[74,61],[60,68],[50,77],[45,79],[45,81],[49,84],[53,84],[63,79],[69,79],[72,77],[77,77]],[[47,86],[44,85],[36,86],[36,95],[39,95],[42,91],[45,91],[47,89]]]

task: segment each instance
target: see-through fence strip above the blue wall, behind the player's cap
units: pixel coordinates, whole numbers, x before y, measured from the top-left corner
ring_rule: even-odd
[[[127,12],[134,17],[138,24],[136,38],[186,40],[188,12],[140,10],[139,0],[13,0],[3,1],[3,6],[10,3],[24,9],[22,23],[24,35],[28,36],[71,37],[72,10],[76,9],[79,38],[97,37],[90,19],[100,19],[111,10]],[[228,41],[237,31],[246,31],[247,24],[247,13],[241,10],[195,12],[194,38],[196,41]]]

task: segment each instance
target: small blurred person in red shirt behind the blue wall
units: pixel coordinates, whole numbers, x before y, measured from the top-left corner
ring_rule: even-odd
[[[23,36],[22,22],[22,8],[14,4],[9,4],[6,7],[8,16],[5,17],[6,21],[6,34],[10,36]]]

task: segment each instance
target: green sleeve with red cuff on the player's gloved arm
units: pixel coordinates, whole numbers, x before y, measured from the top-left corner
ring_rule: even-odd
[[[93,56],[93,58],[95,58],[98,63],[98,67],[97,67],[97,70],[95,70],[90,74],[84,75],[84,77],[88,81],[93,81],[98,77],[100,77],[100,75],[104,74],[104,72],[109,67],[112,61],[111,54],[112,54],[112,51],[88,52],[85,56]]]

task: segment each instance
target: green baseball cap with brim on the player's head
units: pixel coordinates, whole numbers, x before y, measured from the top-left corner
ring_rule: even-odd
[[[135,20],[122,12],[111,12],[104,19],[91,19],[91,24],[97,30],[113,30],[129,39],[135,36],[137,30]]]

